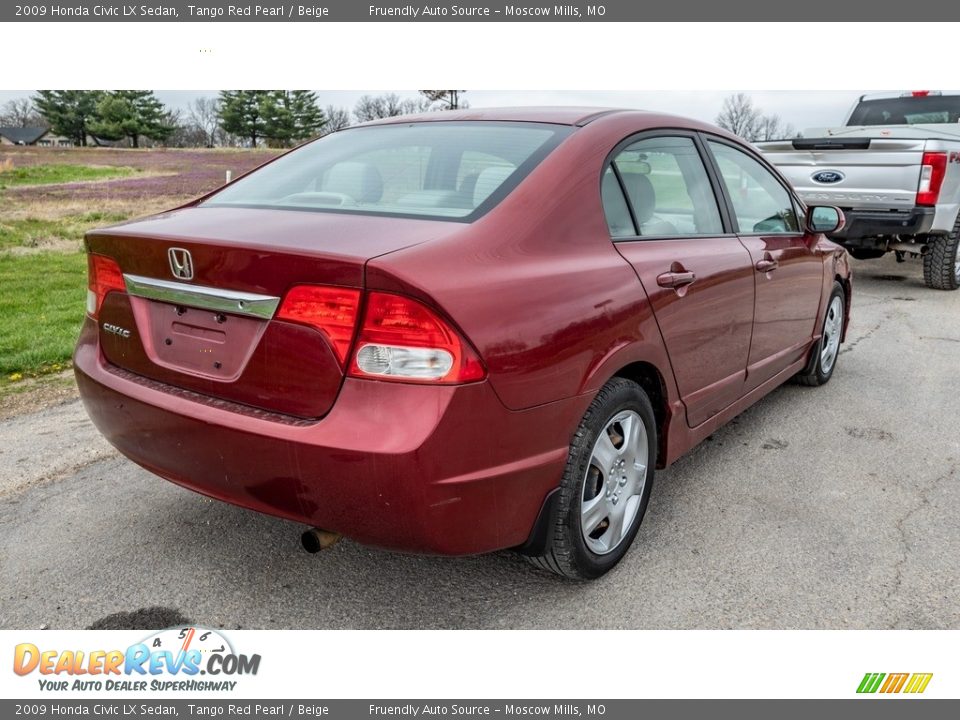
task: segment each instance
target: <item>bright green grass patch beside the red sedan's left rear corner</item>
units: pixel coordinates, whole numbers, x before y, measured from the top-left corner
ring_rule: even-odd
[[[87,291],[83,253],[0,253],[0,386],[69,362]]]

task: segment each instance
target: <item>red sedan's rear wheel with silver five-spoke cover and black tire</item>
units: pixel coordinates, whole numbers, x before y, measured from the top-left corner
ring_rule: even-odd
[[[613,568],[640,528],[656,460],[650,399],[635,382],[612,379],[590,404],[570,443],[553,537],[542,555],[527,559],[578,580]]]

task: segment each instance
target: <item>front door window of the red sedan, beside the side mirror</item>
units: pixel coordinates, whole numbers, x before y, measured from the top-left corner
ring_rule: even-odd
[[[740,232],[800,232],[790,193],[760,162],[724,143],[709,141],[720,176],[733,205]]]

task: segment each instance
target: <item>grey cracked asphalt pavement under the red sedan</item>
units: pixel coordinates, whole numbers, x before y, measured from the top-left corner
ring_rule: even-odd
[[[593,583],[509,552],[308,555],[302,526],[117,455],[77,400],[0,422],[0,628],[960,628],[960,292],[854,272],[831,382],[658,473]]]

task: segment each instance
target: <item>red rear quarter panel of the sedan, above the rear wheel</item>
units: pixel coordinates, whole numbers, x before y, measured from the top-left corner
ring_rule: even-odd
[[[600,200],[603,161],[637,126],[603,124],[574,132],[457,237],[367,267],[368,287],[420,296],[444,311],[510,409],[595,392],[640,360],[676,395],[647,297],[610,240]]]

